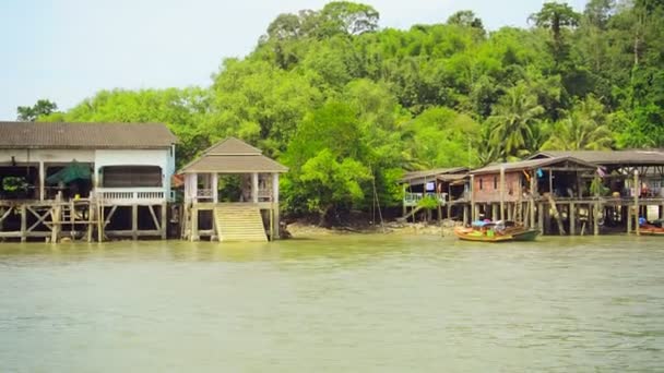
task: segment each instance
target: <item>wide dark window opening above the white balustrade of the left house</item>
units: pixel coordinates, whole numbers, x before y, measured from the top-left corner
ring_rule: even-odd
[[[156,188],[163,185],[158,166],[107,166],[102,169],[104,188]]]

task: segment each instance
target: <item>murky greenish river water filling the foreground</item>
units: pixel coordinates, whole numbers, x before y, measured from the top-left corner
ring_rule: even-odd
[[[664,371],[664,239],[0,245],[2,372]]]

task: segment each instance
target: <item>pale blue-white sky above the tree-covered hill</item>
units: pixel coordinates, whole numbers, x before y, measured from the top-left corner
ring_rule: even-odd
[[[208,86],[281,13],[327,0],[0,0],[0,120],[50,99],[67,110],[100,89]],[[545,0],[365,0],[381,27],[473,10],[488,29],[526,27]],[[585,0],[569,0],[581,11]]]

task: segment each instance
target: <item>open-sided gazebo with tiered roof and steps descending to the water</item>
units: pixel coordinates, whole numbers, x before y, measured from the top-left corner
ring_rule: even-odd
[[[182,238],[264,241],[278,237],[278,176],[288,169],[238,139],[228,137],[182,167],[185,224]],[[220,176],[240,179],[238,196],[220,193]],[[266,218],[266,219],[265,219]]]

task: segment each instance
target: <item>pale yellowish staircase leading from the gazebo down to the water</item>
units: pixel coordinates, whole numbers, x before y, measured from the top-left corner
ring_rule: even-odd
[[[237,204],[215,207],[214,226],[222,242],[268,241],[261,212],[252,205]]]

